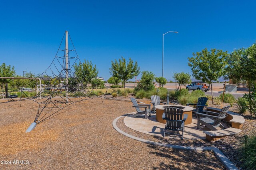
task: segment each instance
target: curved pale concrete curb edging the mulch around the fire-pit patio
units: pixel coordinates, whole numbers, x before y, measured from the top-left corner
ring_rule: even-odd
[[[134,112],[132,112],[132,113],[134,113]],[[128,113],[128,114],[131,114],[131,113]],[[116,129],[116,131],[118,131],[119,133],[121,133],[121,134],[123,134],[127,137],[130,137],[131,139],[135,139],[137,141],[144,142],[146,144],[150,144],[150,145],[154,145],[154,146],[166,147],[166,148],[172,148],[172,149],[179,149],[179,150],[192,150],[192,151],[197,151],[197,152],[212,150],[214,152],[215,156],[218,158],[218,160],[220,160],[220,162],[222,162],[222,164],[227,168],[227,170],[238,170],[236,168],[236,166],[224,155],[224,153],[221,152],[216,147],[186,147],[186,146],[180,146],[180,145],[170,145],[170,144],[163,144],[163,143],[149,141],[149,140],[146,140],[146,139],[142,139],[142,138],[132,136],[132,135],[122,131],[121,129],[119,129],[118,126],[116,125],[116,122],[121,117],[124,117],[124,115],[121,115],[121,116],[117,117],[116,119],[114,119],[114,121],[112,122],[112,125],[113,125],[114,129]]]

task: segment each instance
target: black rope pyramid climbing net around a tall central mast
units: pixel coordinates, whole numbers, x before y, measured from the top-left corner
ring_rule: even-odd
[[[65,33],[66,34],[66,33]],[[26,93],[21,90],[21,93],[24,93],[26,98],[21,98],[20,100],[14,100],[9,98],[8,102],[15,102],[21,100],[32,100],[38,103],[38,111],[34,122],[36,124],[46,121],[60,113],[60,110],[74,104],[76,102],[81,102],[88,99],[109,99],[109,100],[123,100],[107,97],[108,90],[111,89],[112,92],[116,92],[115,89],[112,89],[108,86],[105,86],[106,93],[102,96],[96,95],[92,90],[88,90],[87,84],[84,84],[82,81],[83,78],[78,78],[74,66],[77,64],[79,66],[82,64],[80,61],[74,44],[68,33],[68,39],[71,42],[71,49],[68,47],[68,50],[65,47],[65,43],[62,37],[62,41],[58,48],[58,51],[50,64],[50,66],[39,74],[36,78],[41,78],[45,84],[45,87],[38,92],[38,94],[30,98]],[[68,68],[66,68],[66,51],[68,51]],[[66,74],[68,74],[68,84],[66,83]],[[33,81],[33,80],[31,80]],[[23,84],[25,86],[26,84]],[[15,91],[15,90],[13,90]],[[127,101],[127,100],[123,100]]]

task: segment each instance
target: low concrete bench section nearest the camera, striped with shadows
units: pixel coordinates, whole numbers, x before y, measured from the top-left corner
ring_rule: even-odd
[[[234,135],[236,133],[239,133],[241,130],[229,127],[227,129],[219,130],[219,131],[204,131],[206,134],[206,140],[207,141],[217,141],[218,139],[228,136],[228,135]]]

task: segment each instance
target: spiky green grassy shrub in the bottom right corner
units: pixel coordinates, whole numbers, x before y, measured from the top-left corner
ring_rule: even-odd
[[[246,137],[243,148],[243,160],[246,169],[256,169],[256,135]]]

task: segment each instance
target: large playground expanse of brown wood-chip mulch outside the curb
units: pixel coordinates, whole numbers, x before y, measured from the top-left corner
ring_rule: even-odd
[[[100,99],[71,104],[25,133],[37,108],[33,101],[0,104],[0,158],[12,162],[0,164],[0,169],[224,168],[212,152],[152,147],[118,133],[112,121],[135,111],[131,102]]]

